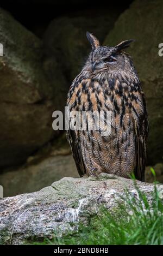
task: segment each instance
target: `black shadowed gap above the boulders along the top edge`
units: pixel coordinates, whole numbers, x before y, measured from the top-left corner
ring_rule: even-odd
[[[122,13],[133,1],[1,1],[1,7],[8,10],[16,20],[35,33],[37,26],[48,26],[49,22],[59,16],[103,15],[109,10]],[[42,31],[43,32],[43,31]],[[41,34],[37,34],[41,37]]]

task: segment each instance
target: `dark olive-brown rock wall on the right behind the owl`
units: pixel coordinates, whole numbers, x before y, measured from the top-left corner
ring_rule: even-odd
[[[162,43],[163,2],[134,1],[115,23],[104,45],[116,45],[120,41],[135,39],[127,52],[131,53],[146,94],[149,114],[148,164],[162,161],[163,137],[163,57],[158,55]]]

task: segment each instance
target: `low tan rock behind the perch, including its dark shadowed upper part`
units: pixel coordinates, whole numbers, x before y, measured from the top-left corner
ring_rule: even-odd
[[[71,155],[71,148],[63,133],[29,156],[17,168],[5,169],[0,174],[3,197],[35,192],[65,176],[79,177]]]

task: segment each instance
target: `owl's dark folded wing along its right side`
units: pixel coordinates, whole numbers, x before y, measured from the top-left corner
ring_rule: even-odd
[[[135,122],[135,169],[134,174],[137,180],[145,181],[146,167],[146,146],[148,138],[148,117],[145,105],[145,114],[141,116],[139,122]]]

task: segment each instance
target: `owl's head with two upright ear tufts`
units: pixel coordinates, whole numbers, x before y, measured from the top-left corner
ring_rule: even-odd
[[[129,69],[132,65],[129,56],[123,52],[134,40],[122,41],[120,44],[109,47],[100,46],[95,35],[86,32],[86,37],[91,43],[92,51],[86,62],[86,68],[93,73]]]

